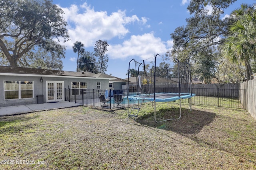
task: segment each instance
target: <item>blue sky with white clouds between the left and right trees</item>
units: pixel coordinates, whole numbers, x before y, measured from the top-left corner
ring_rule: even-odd
[[[70,35],[70,41],[62,43],[66,45],[63,70],[76,71],[77,53],[72,49],[76,41],[92,52],[96,41],[101,39],[109,44],[106,74],[119,78],[128,77],[132,59],[150,64],[156,54],[164,55],[173,45],[170,34],[176,27],[186,25],[186,18],[191,17],[187,10],[189,0],[53,0],[53,3],[64,11]],[[237,0],[224,11],[223,17],[242,3],[255,1]],[[161,62],[158,57],[156,65]],[[131,62],[130,68],[134,67]]]

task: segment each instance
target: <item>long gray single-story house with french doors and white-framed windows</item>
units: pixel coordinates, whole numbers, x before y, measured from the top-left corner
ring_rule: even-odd
[[[65,88],[70,88],[71,98],[81,89],[110,89],[116,79],[91,72],[0,66],[0,107],[36,104],[39,97],[44,103],[64,101]]]

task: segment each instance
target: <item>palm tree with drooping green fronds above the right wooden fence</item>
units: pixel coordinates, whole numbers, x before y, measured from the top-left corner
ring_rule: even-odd
[[[243,5],[243,4],[242,4]],[[229,36],[224,43],[224,51],[232,62],[243,61],[248,80],[254,79],[250,60],[256,58],[256,12],[253,8],[235,10],[238,21],[229,28]]]

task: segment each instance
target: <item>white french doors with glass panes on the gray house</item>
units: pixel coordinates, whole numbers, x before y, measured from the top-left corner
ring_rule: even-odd
[[[46,102],[64,101],[64,82],[46,81]]]

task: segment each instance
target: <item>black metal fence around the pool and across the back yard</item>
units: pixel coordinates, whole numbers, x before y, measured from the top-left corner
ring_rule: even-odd
[[[128,107],[134,101],[128,101],[128,90],[95,90],[95,89],[65,89],[65,100],[75,103],[80,103],[85,106],[98,107],[105,110],[120,109]],[[174,92],[174,93],[191,93],[188,88],[156,88],[157,92]],[[153,89],[147,89],[147,92],[154,93]],[[136,95],[139,92],[129,90],[129,95]],[[140,92],[141,93],[141,92]],[[217,107],[230,107],[245,109],[241,104],[239,96],[245,94],[245,89],[209,89],[209,88],[192,88],[192,93],[196,94],[193,97],[192,104],[217,106]],[[183,99],[183,103],[188,103],[189,99]]]

